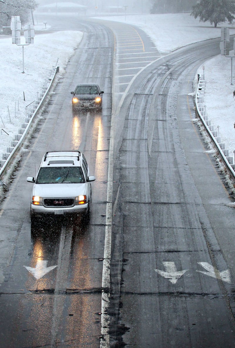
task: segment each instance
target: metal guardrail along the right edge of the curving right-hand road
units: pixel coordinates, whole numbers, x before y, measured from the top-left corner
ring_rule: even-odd
[[[228,150],[225,149],[225,144],[221,143],[220,136],[218,135],[218,131],[215,130],[216,127],[211,125],[210,120],[205,114],[205,104],[204,104],[204,93],[205,93],[205,80],[202,80],[201,77],[198,79],[197,92],[195,97],[196,111],[198,117],[200,117],[206,132],[211,138],[214,146],[216,147],[218,154],[227,168],[230,176],[235,181],[235,164],[233,163],[233,156],[229,156]]]

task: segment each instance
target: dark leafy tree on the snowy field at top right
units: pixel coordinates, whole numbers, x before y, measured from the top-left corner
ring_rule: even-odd
[[[228,20],[232,23],[235,14],[235,0],[201,0],[193,6],[191,15],[194,18],[199,17],[200,22],[218,23]]]

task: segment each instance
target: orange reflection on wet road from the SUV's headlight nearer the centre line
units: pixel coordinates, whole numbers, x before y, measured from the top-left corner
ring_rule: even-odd
[[[97,332],[100,332],[100,327],[97,325],[99,322],[95,325],[97,327],[97,332],[95,333],[93,331],[94,325],[91,325],[91,318],[94,320],[94,313],[97,312],[97,303],[99,303],[97,298],[100,296],[99,293],[92,294],[92,292],[94,288],[100,286],[101,282],[97,279],[96,272],[94,273],[94,269],[97,267],[97,260],[92,260],[92,255],[87,253],[90,249],[90,240],[91,238],[85,234],[83,237],[79,235],[74,241],[73,262],[71,263],[70,271],[70,287],[75,291],[69,297],[70,303],[65,324],[67,327],[65,340],[68,341],[72,337],[76,340],[79,347],[83,346],[84,342],[94,347],[94,338]],[[91,293],[89,293],[90,290]]]

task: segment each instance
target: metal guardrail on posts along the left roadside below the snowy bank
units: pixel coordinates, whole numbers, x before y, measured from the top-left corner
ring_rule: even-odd
[[[2,154],[2,159],[0,160],[0,178],[7,169],[11,158],[13,158],[13,156],[21,147],[27,133],[29,132],[34,117],[37,115],[43,101],[47,97],[47,94],[50,90],[50,87],[52,85],[52,82],[54,81],[57,72],[59,72],[59,66],[57,65],[53,66],[52,69],[49,70],[48,76],[45,79],[44,86],[42,88],[42,92],[38,95],[38,100],[34,102],[31,111],[25,118],[25,123],[21,124],[21,128],[19,129],[18,134],[15,135],[15,140],[11,141],[11,147],[8,147],[7,152]]]

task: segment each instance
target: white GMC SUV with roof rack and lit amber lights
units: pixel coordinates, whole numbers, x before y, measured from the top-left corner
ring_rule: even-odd
[[[89,167],[79,151],[47,152],[42,158],[37,175],[27,177],[33,182],[31,222],[44,214],[90,214],[91,181]]]

